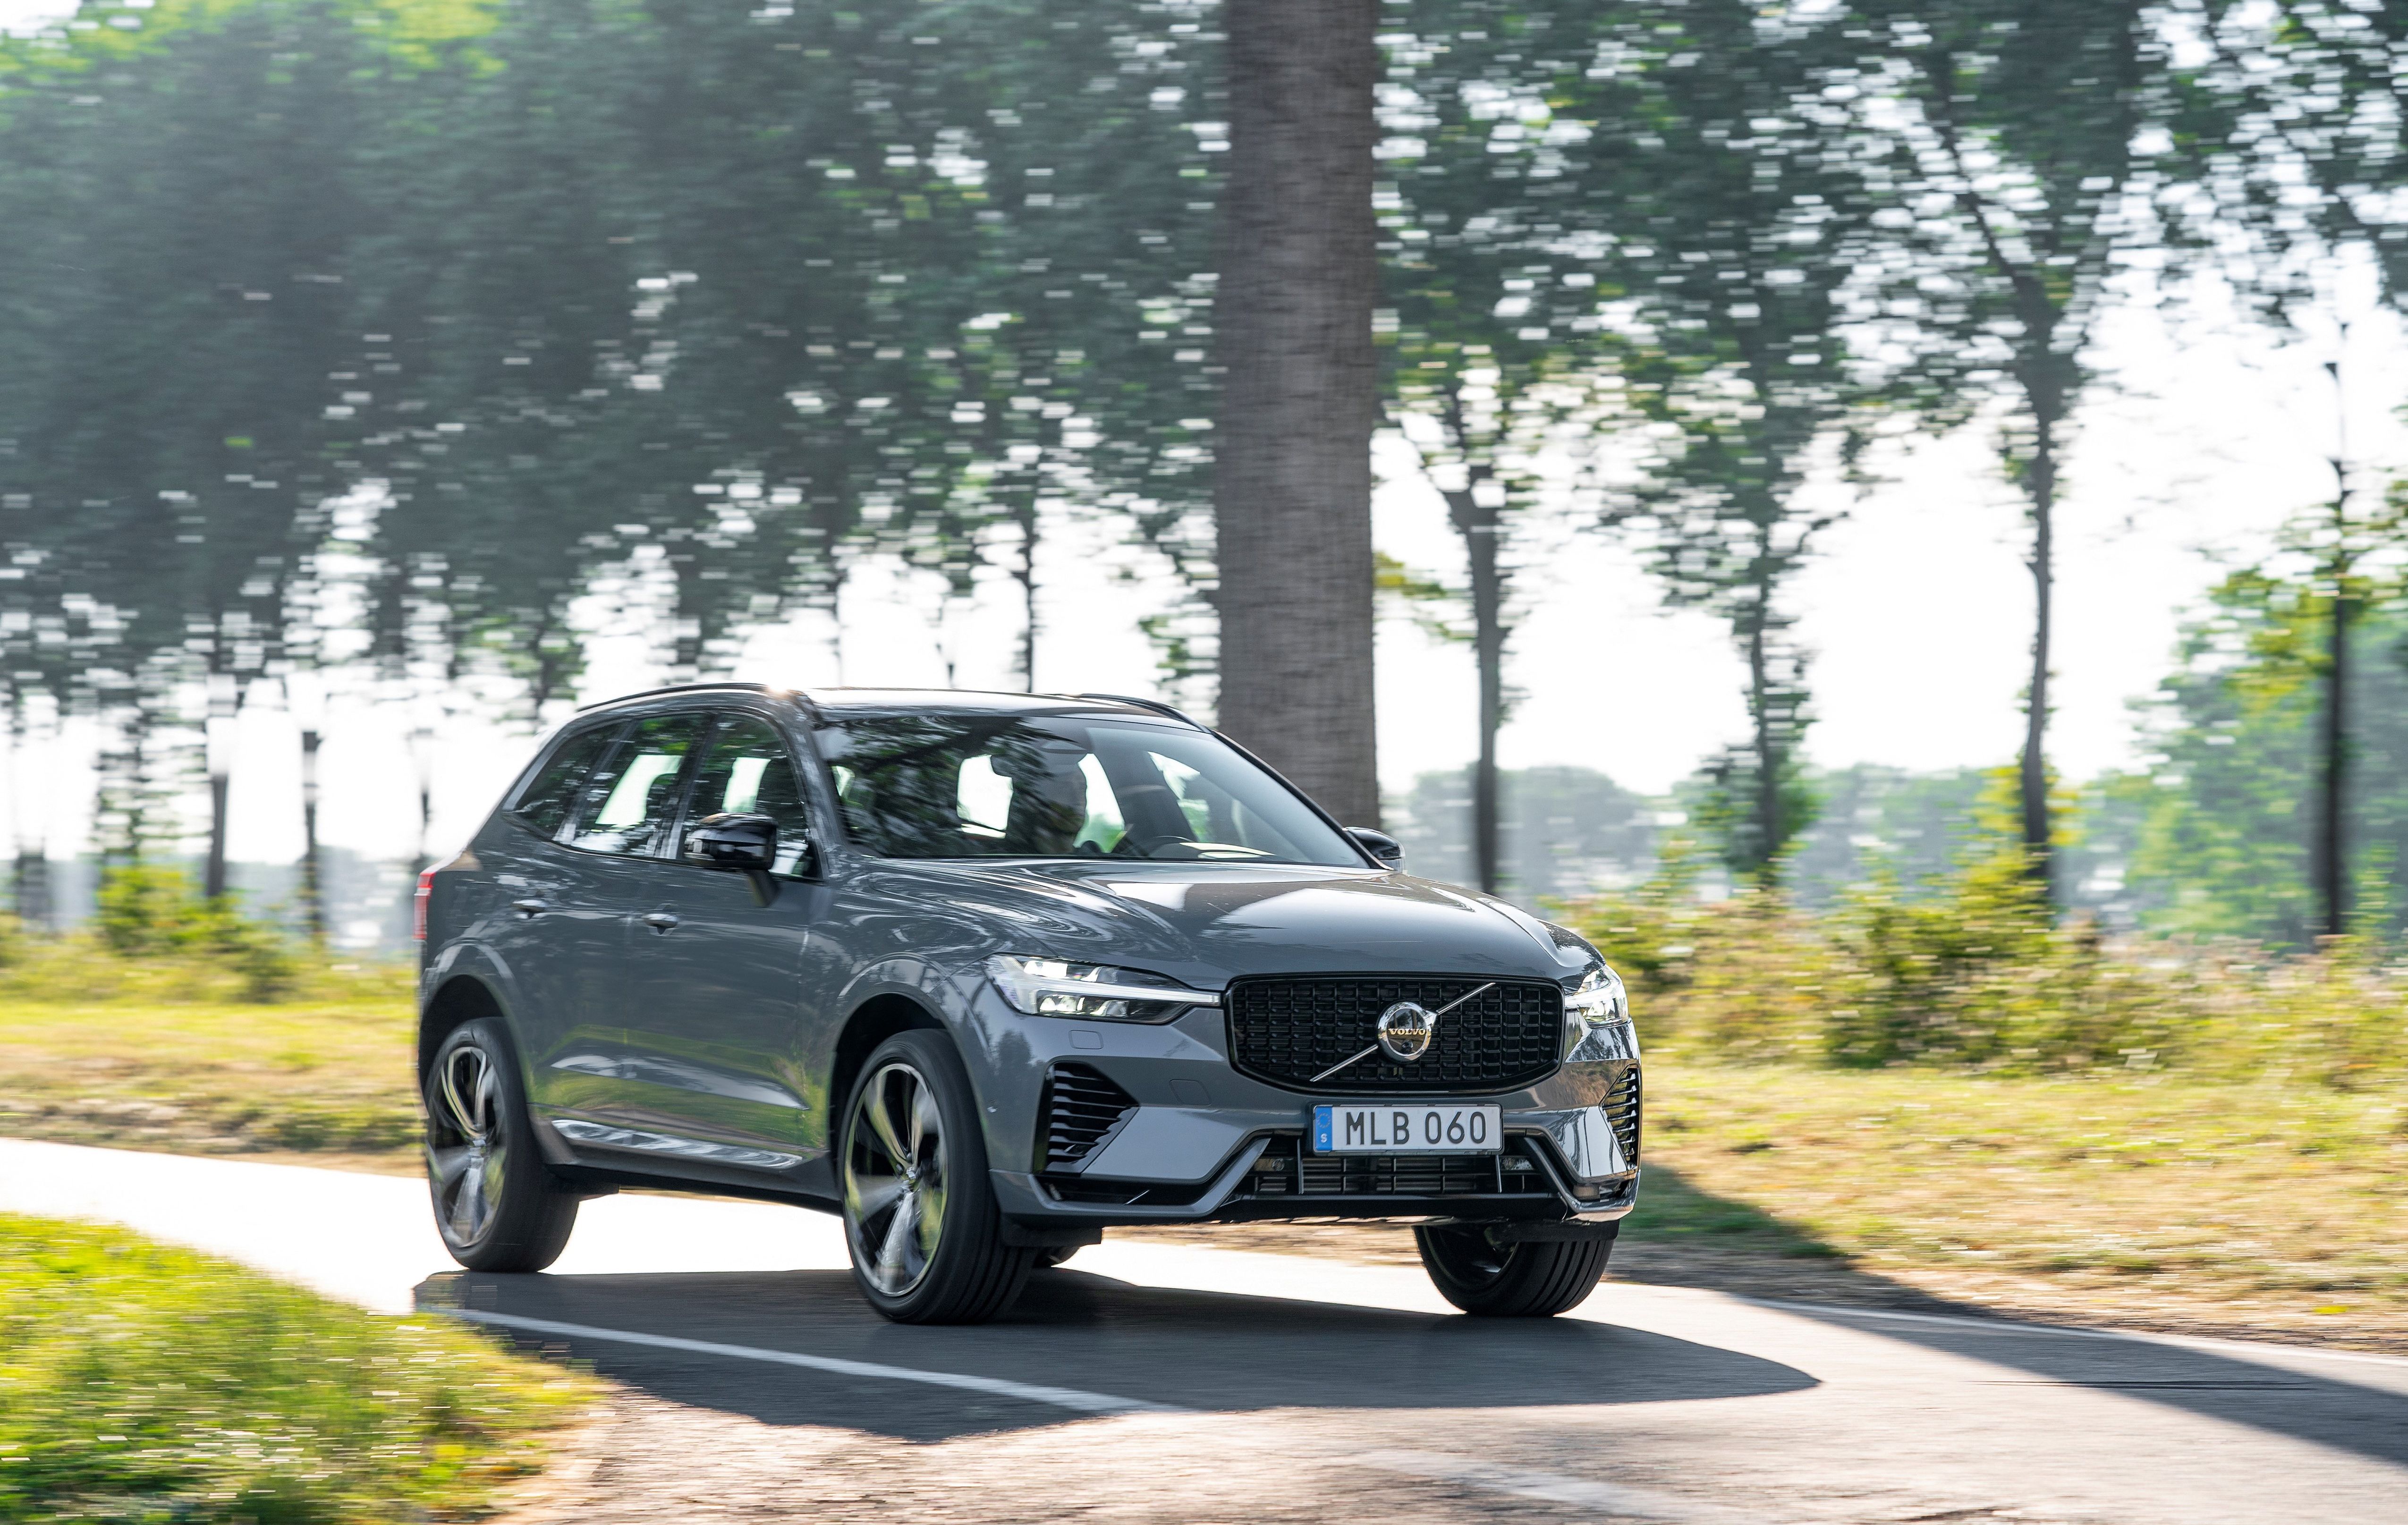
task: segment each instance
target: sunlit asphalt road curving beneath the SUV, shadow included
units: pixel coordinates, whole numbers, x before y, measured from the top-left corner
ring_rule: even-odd
[[[1105,1243],[898,1327],[833,1221],[592,1202],[542,1277],[445,1270],[409,1180],[0,1142],[106,1217],[624,1385],[576,1520],[2408,1520],[2408,1361],[1609,1282],[1548,1323],[1418,1272]]]

